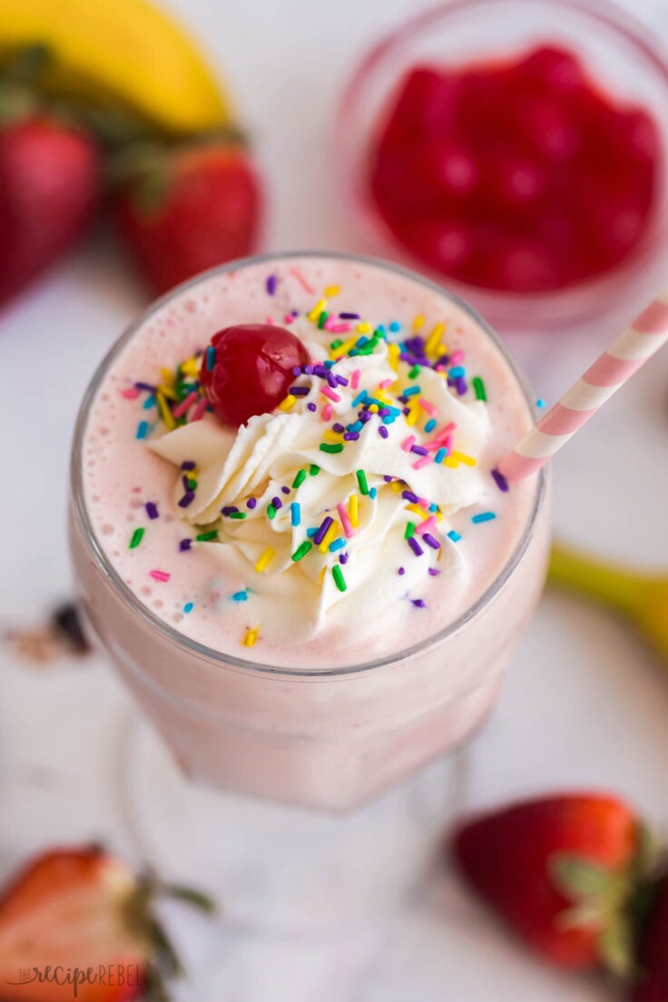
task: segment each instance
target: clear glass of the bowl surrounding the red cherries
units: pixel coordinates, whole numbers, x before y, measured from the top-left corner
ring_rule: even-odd
[[[649,224],[619,265],[578,285],[545,293],[486,289],[430,271],[391,231],[368,182],[369,154],[404,73],[419,63],[490,63],[541,44],[579,56],[613,99],[652,113],[662,152]],[[411,18],[369,51],[351,77],[336,121],[336,170],[365,249],[447,284],[502,331],[581,328],[608,315],[633,315],[668,270],[668,56],[647,27],[607,0],[450,0]]]

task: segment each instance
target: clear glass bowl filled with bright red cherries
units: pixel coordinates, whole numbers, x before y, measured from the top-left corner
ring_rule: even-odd
[[[607,0],[451,0],[369,52],[336,124],[367,249],[505,331],[580,327],[668,275],[668,56]]]

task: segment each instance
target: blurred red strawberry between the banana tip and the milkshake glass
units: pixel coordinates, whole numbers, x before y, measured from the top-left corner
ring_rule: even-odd
[[[116,203],[122,239],[156,294],[250,254],[260,213],[248,155],[216,142],[166,153],[126,184]]]

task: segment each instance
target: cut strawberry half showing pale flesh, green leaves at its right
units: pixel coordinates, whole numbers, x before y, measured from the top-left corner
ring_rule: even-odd
[[[178,973],[150,914],[159,893],[208,907],[192,892],[135,880],[99,849],[38,857],[0,899],[0,1002],[130,1002],[158,984],[158,962]]]

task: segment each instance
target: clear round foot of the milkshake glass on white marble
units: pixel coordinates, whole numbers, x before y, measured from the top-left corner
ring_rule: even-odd
[[[125,745],[137,849],[165,879],[201,888],[238,934],[322,937],[371,927],[410,903],[467,794],[466,747],[347,815],[204,789],[150,724]]]

